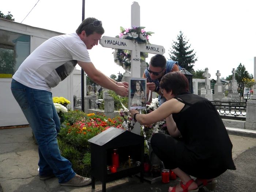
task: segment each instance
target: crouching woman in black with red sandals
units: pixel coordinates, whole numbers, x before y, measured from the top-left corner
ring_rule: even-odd
[[[206,98],[188,92],[188,80],[180,72],[163,76],[160,86],[165,103],[148,114],[130,113],[143,125],[166,118],[170,136],[156,133],[150,143],[165,167],[181,179],[169,192],[197,192],[203,186],[215,189],[215,177],[227,169],[236,170],[233,145],[219,113]]]

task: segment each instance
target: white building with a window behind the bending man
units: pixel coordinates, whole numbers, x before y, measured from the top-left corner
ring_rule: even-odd
[[[11,93],[12,75],[20,64],[55,31],[0,19],[0,127],[28,124]],[[65,97],[73,107],[73,74],[52,89],[53,97]]]

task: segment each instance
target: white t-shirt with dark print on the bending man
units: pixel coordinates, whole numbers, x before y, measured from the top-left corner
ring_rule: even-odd
[[[76,33],[59,35],[35,49],[12,78],[30,88],[51,91],[71,74],[77,61],[91,62],[84,42]]]

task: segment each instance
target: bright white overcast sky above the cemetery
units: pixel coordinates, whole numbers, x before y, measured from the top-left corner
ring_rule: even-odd
[[[15,22],[22,22],[38,0],[1,1],[0,11],[11,11]],[[106,36],[115,37],[120,26],[131,27],[132,0],[85,1],[85,18],[102,20]],[[209,69],[211,78],[231,75],[240,63],[254,74],[256,56],[256,22],[254,0],[137,0],[140,5],[140,26],[155,34],[151,44],[165,47],[169,59],[173,40],[181,30],[198,57],[194,69]],[[23,24],[61,33],[74,33],[82,22],[82,0],[39,0]],[[113,50],[101,45],[89,50],[91,61],[106,75],[124,72],[114,63]],[[149,62],[152,54],[146,59]],[[79,67],[77,67],[79,68]]]

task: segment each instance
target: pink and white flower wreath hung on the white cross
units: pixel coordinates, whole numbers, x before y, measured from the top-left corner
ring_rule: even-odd
[[[154,32],[144,30],[145,27],[133,27],[132,29],[124,29],[120,27],[120,35],[117,38],[132,40],[134,43],[149,43],[148,37]],[[114,49],[114,62],[123,67],[125,71],[131,71],[131,51],[123,49]],[[141,59],[145,59],[148,53],[140,52]]]

